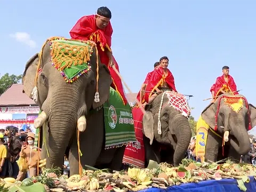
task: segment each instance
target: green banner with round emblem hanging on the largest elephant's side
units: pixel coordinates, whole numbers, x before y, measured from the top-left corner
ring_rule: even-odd
[[[131,107],[129,103],[124,106],[121,96],[112,87],[109,101],[104,104],[104,121],[106,149],[136,141]]]

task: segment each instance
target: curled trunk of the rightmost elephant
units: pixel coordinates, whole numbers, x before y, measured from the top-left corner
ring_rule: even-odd
[[[241,127],[233,128],[232,133],[234,137],[230,137],[230,145],[234,147],[239,155],[245,155],[250,151],[250,139],[249,134],[245,127],[241,129]]]

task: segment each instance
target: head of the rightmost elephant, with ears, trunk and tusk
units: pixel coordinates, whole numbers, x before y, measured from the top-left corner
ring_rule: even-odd
[[[249,120],[251,127],[256,125],[256,108],[248,104],[243,95],[234,95],[235,101],[240,102],[240,110],[234,110],[230,106],[233,101],[227,103],[225,98],[230,95],[225,94],[219,97],[214,103],[207,106],[202,112],[202,118],[212,128],[223,135],[225,141],[230,141],[238,154],[247,154],[250,150],[250,140],[247,131],[249,130]],[[241,99],[241,100],[240,100]],[[246,107],[247,106],[247,107]],[[232,109],[233,108],[233,109]]]

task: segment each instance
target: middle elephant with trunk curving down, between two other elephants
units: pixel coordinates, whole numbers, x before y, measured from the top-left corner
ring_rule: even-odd
[[[163,94],[157,95],[150,105],[145,106],[146,113],[142,119],[145,166],[147,166],[149,159],[158,163],[167,162],[178,166],[181,160],[185,158],[190,143],[191,129],[188,118],[168,105],[167,94]],[[161,134],[158,134],[157,130],[159,108],[162,108],[159,117]],[[161,153],[159,147],[164,147],[165,150],[162,150]]]

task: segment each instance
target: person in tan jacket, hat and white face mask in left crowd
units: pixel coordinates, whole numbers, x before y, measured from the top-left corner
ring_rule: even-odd
[[[23,143],[20,151],[20,157],[23,157],[26,159],[27,165],[28,165],[28,171],[27,172],[21,172],[19,171],[19,175],[17,177],[18,181],[22,181],[27,177],[34,177],[37,175],[37,161],[38,161],[38,152],[37,147],[34,146],[35,141],[35,134],[32,132],[29,132],[26,137],[26,142]]]

